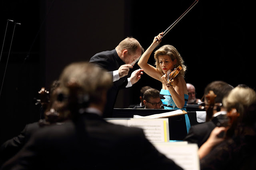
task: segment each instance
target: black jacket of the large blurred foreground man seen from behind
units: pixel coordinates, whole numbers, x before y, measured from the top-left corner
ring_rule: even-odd
[[[158,152],[143,130],[92,113],[40,128],[5,169],[182,169]]]

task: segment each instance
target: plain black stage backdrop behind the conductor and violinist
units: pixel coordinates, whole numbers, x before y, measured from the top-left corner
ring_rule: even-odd
[[[168,28],[194,0],[1,0],[0,45],[7,19],[16,25],[6,67],[14,23],[8,23],[0,61],[0,142],[17,134],[27,123],[38,121],[35,105],[41,87],[49,87],[68,63],[88,61],[100,51],[112,50],[127,36],[146,50],[154,36]],[[182,55],[185,80],[204,87],[222,80],[233,86],[254,88],[253,17],[248,1],[207,1],[198,4],[163,38]],[[149,60],[154,64],[154,57]],[[138,69],[138,65],[134,69]],[[161,83],[144,74],[129,89],[120,91],[116,107],[139,103],[142,86],[158,90]]]

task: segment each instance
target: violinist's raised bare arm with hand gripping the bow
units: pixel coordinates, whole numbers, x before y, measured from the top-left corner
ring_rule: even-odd
[[[158,36],[156,36],[154,38],[152,44],[148,47],[148,49],[140,57],[140,60],[138,61],[138,65],[140,66],[140,68],[144,69],[144,72],[147,73],[150,77],[162,82],[161,76],[160,76],[159,72],[157,71],[157,68],[148,64],[148,59],[149,59],[152,51],[162,41],[161,35],[162,35],[162,33],[160,33]],[[158,41],[156,41],[156,39],[158,39]]]

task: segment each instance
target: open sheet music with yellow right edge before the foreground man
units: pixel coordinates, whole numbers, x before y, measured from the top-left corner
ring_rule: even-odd
[[[142,128],[150,142],[169,142],[168,118],[161,119],[120,119],[106,118],[106,121],[128,127]]]

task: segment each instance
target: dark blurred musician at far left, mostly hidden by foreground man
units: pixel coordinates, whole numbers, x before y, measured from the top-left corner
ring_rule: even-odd
[[[69,119],[69,111],[65,109],[66,103],[63,101],[58,101],[58,94],[60,93],[59,81],[55,80],[52,82],[50,88],[50,102],[44,101],[44,107],[46,107],[44,111],[44,119],[40,119],[38,122],[27,124],[24,129],[18,134],[18,136],[14,136],[13,138],[6,140],[0,146],[0,166],[12,156],[18,153],[18,151],[28,142],[33,133],[35,133],[39,128],[43,128],[45,126],[51,124],[60,124],[63,121]],[[42,93],[41,93],[42,95]],[[47,95],[44,93],[44,97]]]

